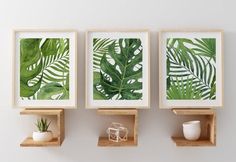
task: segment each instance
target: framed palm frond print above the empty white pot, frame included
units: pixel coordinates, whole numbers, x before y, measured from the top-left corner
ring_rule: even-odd
[[[221,107],[222,31],[163,31],[159,43],[160,108]]]

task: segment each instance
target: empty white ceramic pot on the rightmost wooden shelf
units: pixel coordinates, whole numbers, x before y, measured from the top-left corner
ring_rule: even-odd
[[[199,120],[183,123],[183,133],[187,140],[198,140],[201,135],[201,123]]]

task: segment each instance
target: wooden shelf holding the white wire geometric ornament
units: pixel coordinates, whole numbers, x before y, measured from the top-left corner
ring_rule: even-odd
[[[126,147],[126,146],[137,146],[138,145],[138,110],[137,109],[98,109],[99,115],[124,115],[132,118],[133,121],[133,132],[132,137],[128,137],[127,141],[124,142],[112,142],[108,140],[108,137],[99,137],[97,146],[100,147]]]

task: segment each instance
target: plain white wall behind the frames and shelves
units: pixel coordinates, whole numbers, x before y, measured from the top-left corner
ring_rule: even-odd
[[[0,162],[199,162],[233,161],[236,144],[236,21],[233,0],[1,0]],[[58,148],[21,148],[34,117],[12,109],[13,28],[72,28],[79,32],[79,106],[66,110],[66,139]],[[139,145],[99,148],[107,124],[84,109],[84,32],[89,28],[148,28],[151,31],[151,109],[141,110]],[[158,109],[158,31],[163,28],[220,28],[225,31],[225,106],[217,110],[217,146],[178,148],[170,136],[182,120]],[[232,159],[232,160],[229,160]]]

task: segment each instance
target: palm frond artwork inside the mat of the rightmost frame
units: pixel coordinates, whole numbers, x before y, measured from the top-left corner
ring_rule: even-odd
[[[216,41],[167,39],[167,99],[216,99]]]

